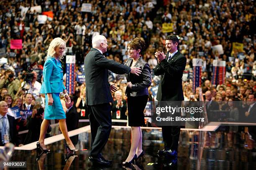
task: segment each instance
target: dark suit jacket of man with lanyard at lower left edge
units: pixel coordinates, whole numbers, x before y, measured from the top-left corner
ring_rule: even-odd
[[[16,123],[14,117],[7,115],[9,125],[10,125],[10,143],[15,144],[16,146],[20,145],[20,137],[18,136],[18,131],[16,130]],[[1,131],[0,131],[1,135]],[[2,140],[0,140],[0,146],[3,146]]]

